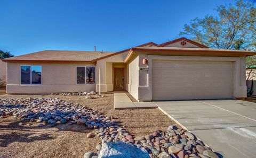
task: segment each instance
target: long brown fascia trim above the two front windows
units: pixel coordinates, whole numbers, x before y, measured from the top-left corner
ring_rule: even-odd
[[[84,60],[5,60],[1,59],[3,62],[12,62],[12,63],[27,63],[27,62],[36,62],[36,63],[94,63],[92,61],[84,61]]]

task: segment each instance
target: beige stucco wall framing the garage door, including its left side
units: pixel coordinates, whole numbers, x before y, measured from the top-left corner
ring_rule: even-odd
[[[148,59],[148,65],[142,64],[142,59]],[[246,80],[245,80],[245,57],[199,57],[199,56],[159,56],[147,55],[140,53],[129,63],[129,68],[139,71],[129,71],[129,85],[133,90],[129,92],[139,101],[152,100],[152,60],[203,60],[203,61],[228,61],[233,62],[233,96],[234,98],[246,97]],[[139,67],[148,67],[148,71],[139,70]],[[138,84],[137,82],[138,81]],[[138,87],[137,87],[138,86]],[[138,93],[134,90],[138,88]]]

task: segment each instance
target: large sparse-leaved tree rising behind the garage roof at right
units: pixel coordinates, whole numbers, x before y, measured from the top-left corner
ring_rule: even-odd
[[[216,16],[196,17],[185,24],[180,35],[190,36],[211,48],[256,51],[255,3],[237,0],[235,4],[220,5],[215,10]],[[256,57],[247,57],[246,65],[256,65]]]

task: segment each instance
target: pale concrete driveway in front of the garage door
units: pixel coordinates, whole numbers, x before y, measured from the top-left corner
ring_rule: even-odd
[[[154,103],[223,157],[256,157],[256,103],[241,100]]]

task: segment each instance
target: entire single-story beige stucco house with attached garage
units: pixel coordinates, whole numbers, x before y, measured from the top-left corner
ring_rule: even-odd
[[[119,52],[44,50],[3,61],[7,93],[99,92],[100,85],[101,92],[126,90],[151,101],[244,98],[245,57],[252,55],[180,38]]]

